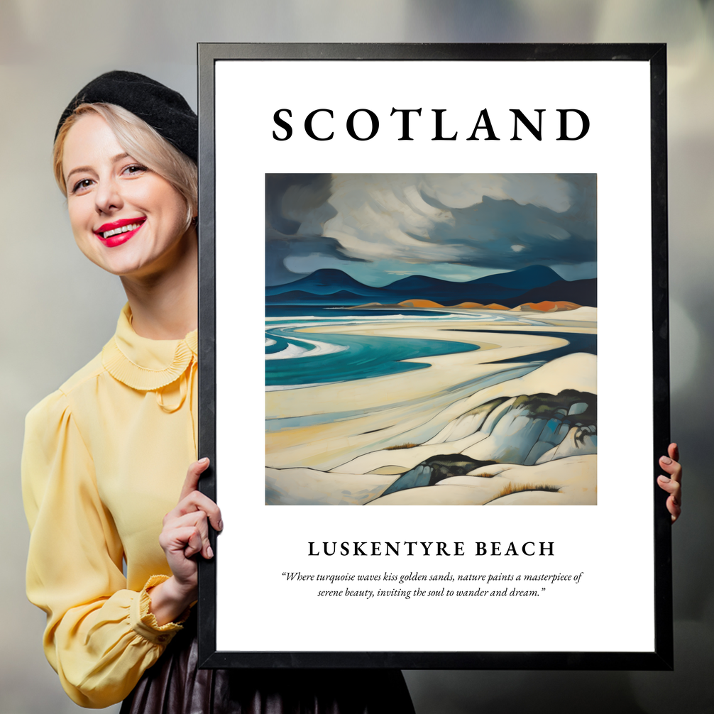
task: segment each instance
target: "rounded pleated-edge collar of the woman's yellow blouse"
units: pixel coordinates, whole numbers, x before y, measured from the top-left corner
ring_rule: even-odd
[[[126,386],[154,391],[176,381],[198,356],[198,331],[183,340],[150,340],[131,327],[131,309],[126,303],[116,323],[116,333],[101,351],[106,371]]]

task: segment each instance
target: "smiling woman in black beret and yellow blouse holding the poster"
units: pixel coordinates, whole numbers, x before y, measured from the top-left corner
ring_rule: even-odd
[[[128,303],[26,422],[27,592],[46,656],[85,707],[413,713],[393,670],[196,670],[196,558],[213,557],[208,523],[223,526],[196,490],[197,144],[183,97],[131,72],[90,82],[59,122],[76,243]]]

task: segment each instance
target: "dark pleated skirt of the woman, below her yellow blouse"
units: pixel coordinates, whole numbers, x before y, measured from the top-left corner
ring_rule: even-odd
[[[414,714],[399,670],[199,670],[195,618],[121,714]]]

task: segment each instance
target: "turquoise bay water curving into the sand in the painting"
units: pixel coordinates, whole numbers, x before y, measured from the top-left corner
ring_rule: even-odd
[[[287,359],[266,359],[266,386],[332,383],[408,372],[425,369],[429,365],[401,360],[478,349],[478,345],[445,340],[344,333],[307,335],[286,327],[266,330],[266,338],[276,342],[266,346],[266,354],[279,353],[289,344],[304,350],[298,356]],[[342,349],[321,353],[321,349],[306,342],[306,339]],[[311,352],[314,353],[312,356]]]

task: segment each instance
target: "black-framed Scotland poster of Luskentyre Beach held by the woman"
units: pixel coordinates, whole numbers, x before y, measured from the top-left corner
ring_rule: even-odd
[[[664,46],[202,44],[199,116],[203,666],[670,668]]]

